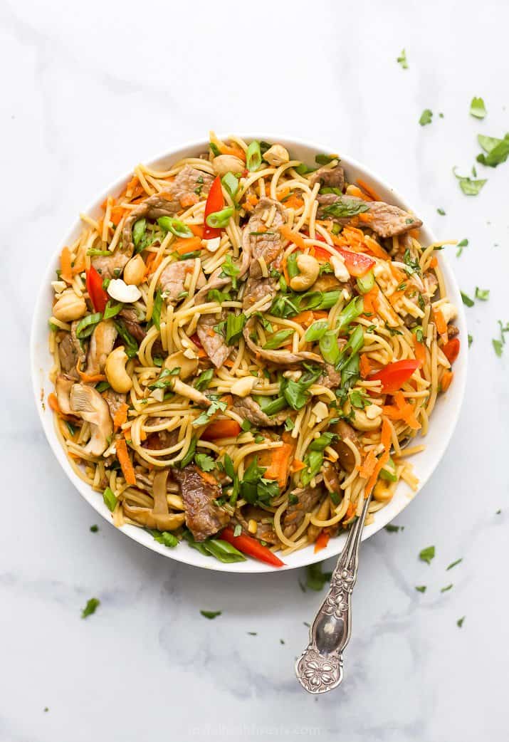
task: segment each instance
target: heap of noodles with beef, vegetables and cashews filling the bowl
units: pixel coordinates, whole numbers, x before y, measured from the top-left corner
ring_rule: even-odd
[[[115,525],[277,565],[416,488],[404,447],[459,351],[441,244],[316,160],[211,134],[62,250],[49,401]]]

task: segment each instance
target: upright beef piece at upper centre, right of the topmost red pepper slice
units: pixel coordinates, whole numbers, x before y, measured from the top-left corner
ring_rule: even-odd
[[[266,226],[263,219],[266,213],[275,206],[275,216],[271,225]],[[257,203],[252,217],[244,227],[243,234],[246,236],[244,242],[249,243],[249,252],[251,254],[251,263],[249,266],[249,275],[252,278],[261,278],[262,270],[257,258],[263,257],[267,266],[278,268],[280,259],[283,256],[283,238],[280,235],[279,227],[285,223],[285,210],[278,201],[272,198],[262,198]],[[255,234],[261,232],[262,234]]]

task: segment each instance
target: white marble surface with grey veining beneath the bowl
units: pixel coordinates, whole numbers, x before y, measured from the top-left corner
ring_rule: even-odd
[[[0,3],[0,740],[505,740],[509,345],[496,358],[491,338],[509,321],[509,163],[487,169],[475,198],[451,168],[471,167],[478,132],[509,129],[509,7],[178,5]],[[473,95],[485,122],[468,115]],[[423,128],[424,108],[435,117]],[[404,531],[362,549],[346,679],[328,697],[293,676],[320,600],[301,592],[303,575],[205,573],[105,522],[91,533],[95,513],[53,459],[30,390],[39,275],[75,214],[129,165],[208,128],[309,137],[366,162],[440,237],[470,240],[460,259],[450,252],[462,289],[491,290],[467,310],[474,341],[449,452],[400,516]],[[418,551],[430,544],[427,566]],[[100,608],[83,621],[92,595]]]

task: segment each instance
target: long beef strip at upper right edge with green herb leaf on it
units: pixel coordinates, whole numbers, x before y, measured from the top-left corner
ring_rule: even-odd
[[[399,206],[392,206],[384,201],[363,201],[361,198],[354,196],[336,196],[335,194],[324,194],[317,197],[321,206],[318,208],[318,219],[332,219],[338,224],[347,225],[352,217],[334,217],[326,211],[327,206],[334,203],[358,203],[368,207],[371,219],[366,226],[380,237],[395,237],[397,234],[404,234],[410,229],[416,229],[422,226],[422,222],[409,211],[400,209]]]

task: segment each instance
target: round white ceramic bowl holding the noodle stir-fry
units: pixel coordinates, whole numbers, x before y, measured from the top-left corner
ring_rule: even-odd
[[[311,142],[302,142],[297,139],[275,137],[269,134],[264,134],[263,136],[251,134],[246,135],[245,137],[247,141],[250,141],[254,138],[263,139],[269,142],[280,142],[289,149],[292,157],[295,157],[298,160],[303,160],[303,162],[307,162],[309,165],[312,165],[313,162],[315,162],[315,154],[319,152],[338,151],[338,142],[336,142],[332,146],[323,146],[315,145]],[[180,160],[182,157],[196,156],[198,153],[206,151],[207,147],[208,142],[193,142],[191,144],[183,146],[180,149],[174,150],[173,152],[168,152],[168,154],[164,154],[162,155],[162,157],[158,157],[156,160],[150,162],[150,165],[151,167],[159,167],[165,169],[168,167],[168,165],[173,162],[177,162],[177,160]],[[364,167],[364,165],[360,165],[358,162],[355,162],[355,160],[350,160],[349,157],[345,157],[343,154],[341,154],[341,162],[344,165],[345,170],[347,171],[349,181],[355,182],[358,177],[361,177],[366,180],[367,183],[370,183],[378,192],[378,194],[381,194],[381,197],[387,200],[389,203],[395,203],[396,205],[402,206],[405,209],[416,211],[417,214],[419,213],[418,209],[413,209],[408,203],[404,201],[404,199],[402,199],[398,195],[398,193],[396,193],[396,191],[393,190],[393,188],[390,187],[390,185],[387,185],[384,180],[381,180],[379,177],[373,174],[372,171]],[[91,208],[88,209],[88,213],[92,215],[99,215],[100,204],[105,200],[105,197],[108,196],[108,194],[119,193],[119,191],[124,187],[125,183],[127,183],[130,177],[131,174],[122,177],[120,180],[117,180],[114,185],[111,185],[106,191],[103,191],[102,194],[91,205]],[[62,245],[59,247],[58,250],[56,250],[56,252],[54,252],[53,256],[50,258],[47,266],[47,271],[42,278],[41,289],[39,292],[39,297],[37,298],[36,309],[33,315],[32,335],[30,339],[33,391],[36,398],[37,409],[39,410],[39,415],[41,417],[42,427],[44,427],[47,440],[49,441],[53,453],[61,464],[62,469],[67,474],[70,482],[72,482],[73,486],[76,487],[76,490],[78,490],[79,493],[82,494],[85,500],[87,500],[87,502],[89,502],[90,505],[100,515],[102,515],[103,518],[111,523],[111,513],[104,502],[102,502],[101,494],[92,490],[91,487],[85,484],[85,482],[82,482],[82,480],[76,476],[76,474],[70,467],[68,459],[65,456],[65,453],[62,450],[58,439],[56,438],[56,433],[53,427],[53,413],[51,413],[47,404],[42,404],[42,398],[44,397],[44,399],[47,399],[47,394],[52,390],[50,381],[48,379],[48,374],[52,365],[52,359],[48,350],[47,342],[47,321],[50,317],[50,309],[53,297],[53,291],[50,286],[50,281],[53,280],[55,276],[55,270],[58,267],[59,254],[62,250],[62,247],[65,244],[69,244],[70,242],[72,242],[72,240],[74,240],[79,234],[81,229],[82,224],[79,220],[77,220],[74,223],[73,228],[70,229],[67,234],[65,234],[65,240],[63,240]],[[435,241],[436,239],[433,234],[431,234],[430,230],[424,227],[421,230],[421,242],[424,243],[424,245],[427,245]],[[441,395],[439,397],[439,401],[436,404],[435,410],[433,410],[433,416],[430,421],[430,430],[425,439],[426,449],[423,452],[416,454],[416,456],[413,456],[412,458],[414,471],[419,479],[419,490],[425,485],[425,483],[433,473],[433,470],[435,470],[435,467],[437,466],[437,464],[439,464],[439,461],[444,455],[444,452],[447,448],[447,444],[449,443],[450,438],[453,435],[453,430],[456,426],[456,421],[458,419],[460,407],[462,405],[467,375],[467,325],[464,318],[462,298],[460,296],[453,272],[450,269],[450,266],[448,265],[447,259],[445,259],[443,252],[439,252],[438,257],[447,284],[447,293],[459,310],[459,315],[455,321],[455,324],[459,327],[462,345],[461,351],[459,353],[459,358],[454,364],[453,384],[447,391],[446,395]],[[418,442],[418,439],[416,439],[416,442]],[[416,495],[414,494],[413,496]],[[401,513],[401,510],[404,510],[404,508],[407,507],[409,502],[411,502],[411,500],[413,499],[413,496],[411,496],[410,490],[407,485],[401,483],[389,505],[387,505],[385,508],[382,508],[382,510],[379,510],[378,513],[375,514],[374,522],[371,525],[367,526],[367,528],[364,528],[364,533],[362,536],[363,540],[369,539],[373,533],[376,533],[377,531],[380,531],[381,528],[384,528],[384,525],[387,525],[387,523],[393,520],[395,516]],[[64,524],[62,523],[62,527],[63,526]],[[178,545],[176,548],[167,548],[154,541],[150,533],[142,530],[142,528],[136,528],[133,525],[123,526],[122,531],[124,531],[124,533],[131,539],[134,539],[140,544],[143,544],[144,546],[152,549],[152,551],[157,551],[159,552],[159,554],[162,554],[165,557],[169,557],[170,559],[177,559],[177,561],[179,562],[185,562],[186,564],[191,564],[197,567],[204,567],[224,572],[254,573],[280,571],[275,570],[268,565],[264,565],[262,562],[257,562],[254,559],[248,559],[246,562],[223,564],[222,562],[218,562],[217,559],[214,559],[213,557],[203,556],[196,549],[189,547],[188,544],[185,542],[180,543],[180,545]],[[343,534],[341,536],[338,536],[338,538],[331,539],[329,541],[329,545],[318,554],[314,553],[312,546],[301,549],[301,551],[296,551],[294,554],[286,557],[286,567],[284,569],[292,569],[295,567],[301,567],[303,565],[309,565],[312,564],[312,562],[318,562],[322,559],[326,559],[327,557],[333,557],[335,556],[335,554],[339,554],[339,552],[343,548],[345,538],[346,536]]]

